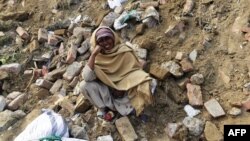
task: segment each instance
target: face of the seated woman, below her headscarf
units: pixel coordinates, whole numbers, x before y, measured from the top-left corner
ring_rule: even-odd
[[[113,39],[108,36],[98,39],[97,44],[104,50],[111,50],[114,47]]]

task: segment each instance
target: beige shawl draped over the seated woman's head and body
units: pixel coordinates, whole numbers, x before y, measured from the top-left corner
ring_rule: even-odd
[[[99,27],[108,28],[108,27]],[[98,28],[98,29],[99,29]],[[91,37],[92,49],[96,46],[96,29]],[[110,28],[109,28],[110,29]],[[112,32],[113,30],[110,29]],[[117,90],[128,91],[131,104],[139,115],[145,105],[152,103],[149,74],[144,72],[133,49],[120,43],[115,35],[115,47],[105,54],[99,53],[95,60],[95,73],[104,84]]]

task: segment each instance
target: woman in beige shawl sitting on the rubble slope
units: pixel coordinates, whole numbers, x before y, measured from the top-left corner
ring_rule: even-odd
[[[121,44],[109,27],[96,29],[90,44],[92,53],[82,71],[81,92],[103,115],[108,109],[139,116],[152,103],[155,79],[142,70],[134,51]]]

